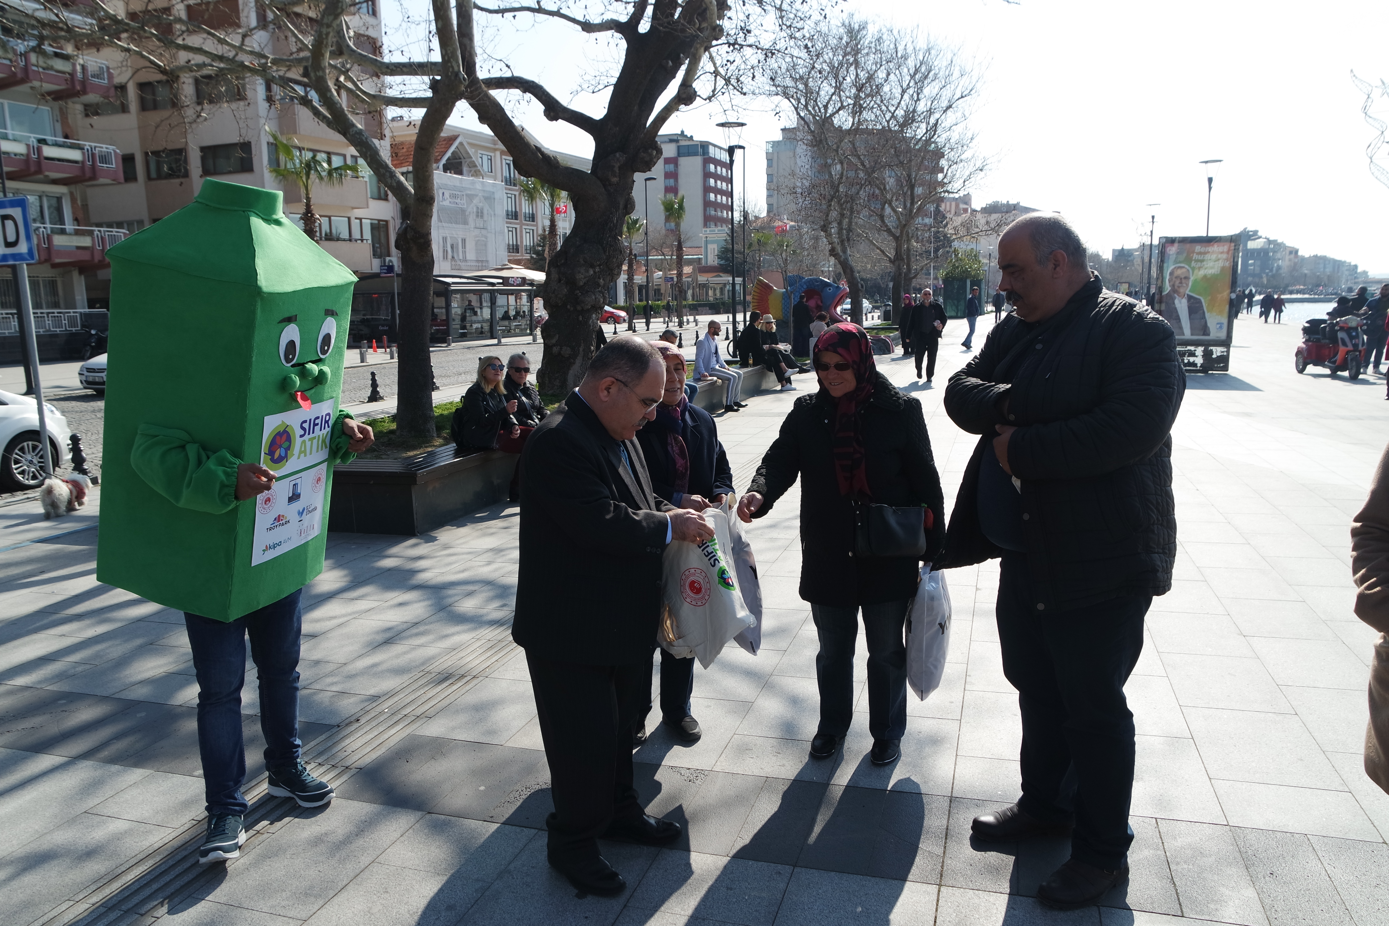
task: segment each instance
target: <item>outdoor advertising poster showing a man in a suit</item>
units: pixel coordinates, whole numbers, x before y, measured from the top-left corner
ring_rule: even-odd
[[[1157,311],[1178,343],[1229,343],[1236,237],[1164,237]]]

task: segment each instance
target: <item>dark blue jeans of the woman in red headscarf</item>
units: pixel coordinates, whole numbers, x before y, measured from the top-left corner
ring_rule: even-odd
[[[910,600],[865,604],[868,643],[868,733],[875,740],[900,740],[907,732],[907,646],[903,628]],[[858,608],[811,604],[820,636],[815,680],[820,683],[820,729],[843,737],[854,719],[854,643]]]

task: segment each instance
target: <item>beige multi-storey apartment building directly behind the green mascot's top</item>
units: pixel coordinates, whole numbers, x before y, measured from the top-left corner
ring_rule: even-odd
[[[199,3],[197,19],[213,28],[239,31],[258,25],[256,4],[239,0]],[[381,49],[381,19],[372,3],[358,4],[349,17],[354,40]],[[192,4],[189,17],[193,17]],[[286,39],[272,29],[261,37],[288,51]],[[332,164],[358,164],[361,158],[332,128],[308,110],[278,93],[274,85],[253,78],[192,75],[168,81],[140,61],[113,60],[113,93],[75,107],[76,137],[119,150],[121,183],[92,187],[88,194],[90,225],[136,232],[188,205],[203,179],[215,176],[285,194],[285,215],[300,224],[304,197],[293,182],[269,174],[278,165],[267,133],[275,129],[296,149]],[[365,114],[363,125],[385,142],[379,114]],[[319,244],[360,275],[375,273],[390,260],[394,207],[385,187],[363,167],[361,179],[342,186],[315,185],[314,212],[319,217]],[[110,271],[88,280],[93,303],[110,292]]]

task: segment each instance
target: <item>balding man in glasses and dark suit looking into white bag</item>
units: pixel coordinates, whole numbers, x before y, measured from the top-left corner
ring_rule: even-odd
[[[665,387],[661,355],[614,337],[521,457],[521,562],[511,639],[525,650],[554,814],[549,861],[575,887],[626,882],[600,837],[663,845],[678,823],[646,814],[632,787],[632,727],[650,697],[661,555],[713,536],[703,516],[651,491],[636,432]],[[614,569],[613,564],[618,564]]]

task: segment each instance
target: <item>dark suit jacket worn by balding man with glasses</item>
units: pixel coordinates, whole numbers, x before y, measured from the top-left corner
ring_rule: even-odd
[[[646,458],[618,441],[576,393],[521,454],[521,575],[511,639],[546,659],[650,661],[661,555],[672,505],[651,491]]]

